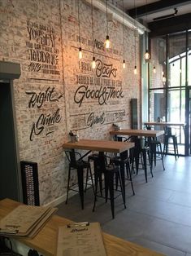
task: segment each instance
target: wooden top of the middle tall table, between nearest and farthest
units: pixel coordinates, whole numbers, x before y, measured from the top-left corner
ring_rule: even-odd
[[[111,130],[111,135],[130,135],[130,136],[145,136],[145,137],[158,137],[164,134],[163,130],[134,130],[134,129],[121,129]]]

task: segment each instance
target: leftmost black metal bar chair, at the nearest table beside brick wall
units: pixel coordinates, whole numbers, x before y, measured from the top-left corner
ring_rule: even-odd
[[[67,178],[67,199],[68,200],[68,193],[69,190],[74,192],[79,192],[80,194],[80,201],[81,201],[81,208],[84,209],[84,169],[86,169],[86,182],[85,182],[85,191],[87,189],[87,183],[90,180],[92,183],[92,188],[94,192],[94,185],[93,185],[93,175],[91,166],[88,161],[82,160],[82,157],[79,152],[75,152],[74,150],[65,150],[65,154],[67,156],[67,160],[69,162],[69,170],[68,170],[68,178]],[[77,160],[76,160],[77,157]],[[77,183],[70,184],[71,180],[71,170],[77,170]],[[76,185],[78,184],[78,190],[76,190]]]

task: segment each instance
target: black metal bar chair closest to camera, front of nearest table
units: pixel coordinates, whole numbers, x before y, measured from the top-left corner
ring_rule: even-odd
[[[109,159],[110,163],[107,164],[106,158]],[[94,203],[93,203],[93,211],[95,210],[96,202],[98,197],[104,197],[102,195],[98,194],[98,179],[100,175],[104,175],[104,181],[105,181],[105,199],[106,202],[108,199],[111,201],[111,214],[112,218],[115,218],[115,205],[114,205],[114,200],[116,198],[115,196],[115,175],[119,177],[119,185],[120,185],[120,194],[122,195],[123,202],[124,202],[124,208],[126,209],[125,205],[125,195],[124,195],[124,188],[122,185],[122,179],[121,179],[121,174],[118,166],[115,166],[113,163],[111,163],[111,158],[104,156],[104,154],[99,154],[98,158],[94,158],[94,176],[95,176],[95,197],[94,197]],[[110,193],[110,198],[108,198],[108,192]]]

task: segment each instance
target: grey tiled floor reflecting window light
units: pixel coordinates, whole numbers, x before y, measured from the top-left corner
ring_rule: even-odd
[[[85,210],[80,210],[79,195],[59,205],[58,214],[74,221],[99,222],[102,230],[169,256],[191,256],[191,157],[164,157],[154,167],[148,183],[141,170],[133,176],[136,195],[126,187],[127,209],[121,198],[115,201],[115,219],[110,201],[98,199],[95,212],[93,192],[85,195]]]

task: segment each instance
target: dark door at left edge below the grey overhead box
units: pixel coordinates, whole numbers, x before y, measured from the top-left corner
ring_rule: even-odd
[[[20,201],[11,82],[0,82],[0,200]]]

